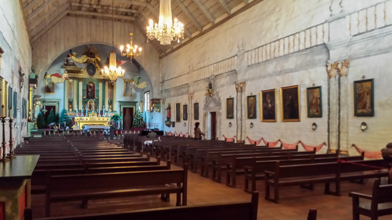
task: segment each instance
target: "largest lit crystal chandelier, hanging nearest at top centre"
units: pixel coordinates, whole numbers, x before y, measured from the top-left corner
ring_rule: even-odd
[[[161,0],[159,7],[159,22],[149,21],[147,26],[147,41],[156,38],[161,44],[170,44],[172,41],[180,42],[184,38],[184,24],[174,19],[172,22],[172,4],[171,0]]]

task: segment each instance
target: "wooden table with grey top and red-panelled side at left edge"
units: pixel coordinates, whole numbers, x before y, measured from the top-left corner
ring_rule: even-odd
[[[31,174],[39,155],[17,155],[0,162],[0,220],[22,220],[31,204]]]

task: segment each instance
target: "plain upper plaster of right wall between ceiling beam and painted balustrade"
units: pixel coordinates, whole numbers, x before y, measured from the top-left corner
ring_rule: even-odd
[[[264,0],[162,59],[162,76],[168,80],[325,22],[330,2]]]

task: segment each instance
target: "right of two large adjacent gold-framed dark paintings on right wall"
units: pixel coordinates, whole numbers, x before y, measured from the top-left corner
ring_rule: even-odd
[[[301,121],[298,86],[280,88],[283,121]]]

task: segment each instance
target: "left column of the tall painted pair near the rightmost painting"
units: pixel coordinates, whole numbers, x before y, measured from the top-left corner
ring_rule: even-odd
[[[338,63],[327,65],[328,73],[328,149],[335,152],[338,149]]]

